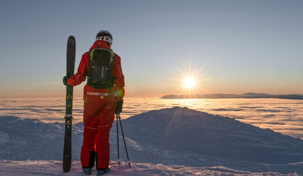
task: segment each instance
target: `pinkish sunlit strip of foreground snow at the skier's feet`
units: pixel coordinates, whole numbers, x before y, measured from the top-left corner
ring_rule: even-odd
[[[269,176],[299,176],[297,173],[280,174],[279,172],[252,173],[246,171],[236,171],[224,167],[191,168],[178,165],[162,165],[149,163],[132,163],[131,168],[127,164],[120,165],[110,162],[112,170],[105,175],[142,176],[142,175],[269,175]],[[6,161],[0,160],[0,175],[85,175],[81,169],[81,162],[73,161],[69,173],[63,173],[61,161]],[[92,175],[96,175],[93,170]]]

